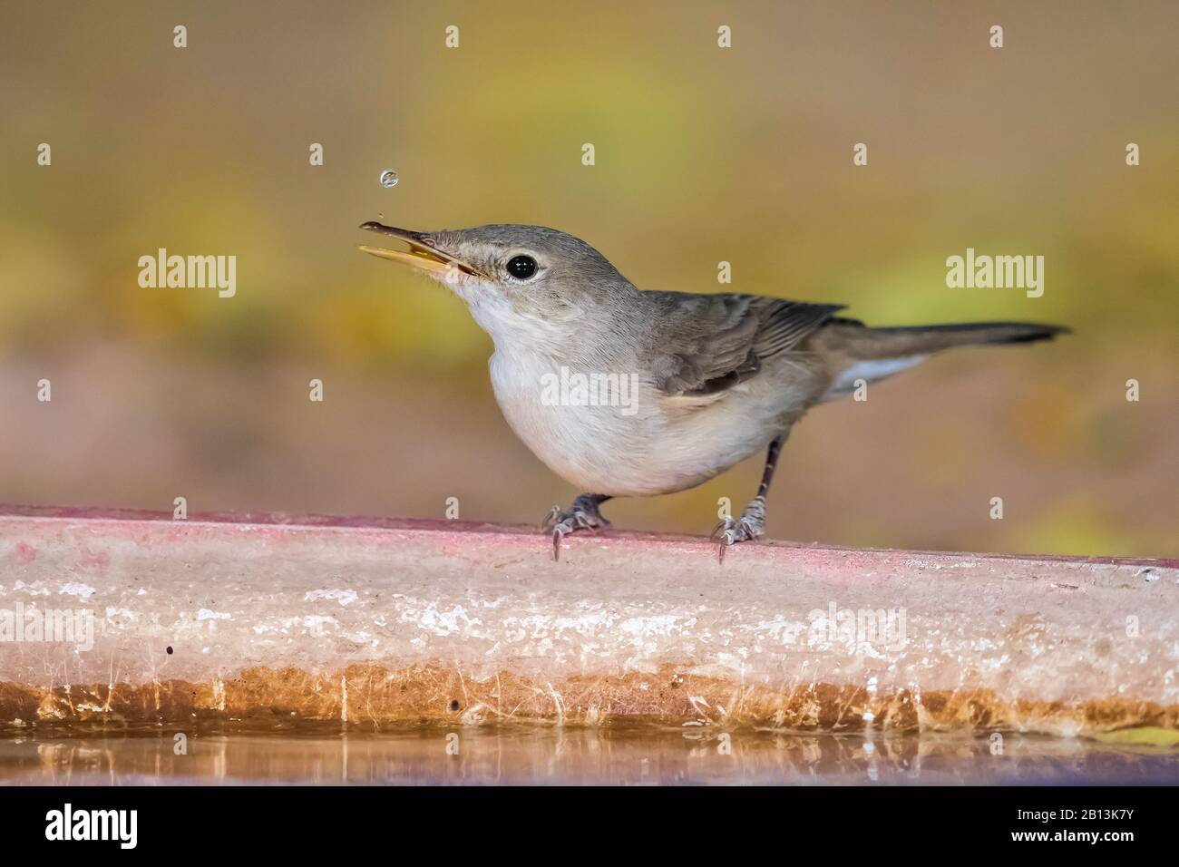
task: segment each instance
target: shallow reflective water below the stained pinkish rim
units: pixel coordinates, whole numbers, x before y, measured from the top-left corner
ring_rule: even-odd
[[[176,734],[0,741],[0,783],[955,784],[1179,779],[1174,749],[1016,735],[852,737],[558,728],[193,734],[179,740]]]

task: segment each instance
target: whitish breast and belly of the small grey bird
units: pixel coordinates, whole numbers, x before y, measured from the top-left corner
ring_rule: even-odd
[[[762,451],[796,400],[769,377],[705,401],[668,399],[640,363],[600,352],[608,337],[588,333],[585,322],[529,320],[495,297],[470,308],[495,342],[492,388],[505,418],[581,493],[651,497],[699,485]],[[561,393],[554,401],[554,377],[578,374],[627,377],[633,390],[621,395],[625,403],[585,403]]]

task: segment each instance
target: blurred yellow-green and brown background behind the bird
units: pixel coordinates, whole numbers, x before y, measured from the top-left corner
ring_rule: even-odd
[[[1069,324],[815,410],[769,533],[1179,554],[1177,32],[1173,2],[4,2],[0,501],[442,517],[457,497],[500,521],[567,503],[501,419],[461,302],[356,251],[383,215],[552,225],[640,288]],[[140,288],[160,247],[236,255],[237,296]],[[948,289],[967,247],[1043,255],[1043,297]],[[706,532],[759,473],[607,514]]]

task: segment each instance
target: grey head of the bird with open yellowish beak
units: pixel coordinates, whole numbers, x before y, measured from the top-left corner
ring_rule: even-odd
[[[408,250],[360,249],[447,285],[493,337],[509,328],[574,328],[598,304],[635,291],[590,244],[541,225],[422,232],[369,222],[361,229],[403,242]]]

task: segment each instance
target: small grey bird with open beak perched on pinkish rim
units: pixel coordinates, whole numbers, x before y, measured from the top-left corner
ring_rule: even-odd
[[[765,497],[790,428],[956,346],[1026,343],[1067,329],[1028,322],[869,328],[760,295],[645,291],[584,241],[539,225],[432,232],[369,222],[408,250],[361,247],[447,284],[490,335],[505,418],[554,473],[585,491],[542,528],[608,527],[614,497],[684,491],[766,449],[757,497],[713,531],[719,557],[765,527]]]

